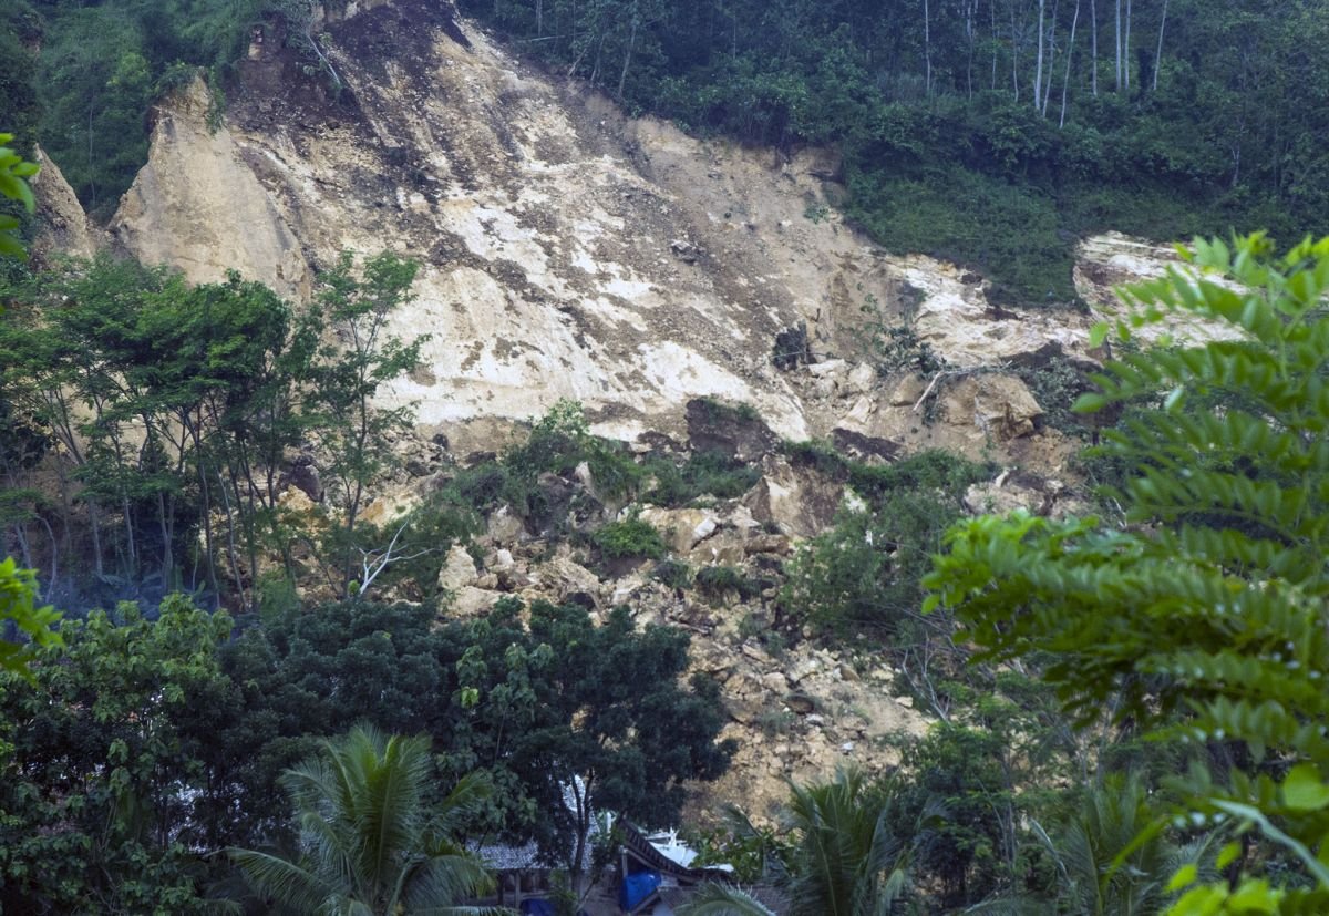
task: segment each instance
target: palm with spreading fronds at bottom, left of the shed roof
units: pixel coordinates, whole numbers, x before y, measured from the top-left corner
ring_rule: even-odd
[[[302,916],[506,912],[457,905],[492,887],[452,839],[488,783],[466,776],[431,810],[429,778],[428,738],[356,727],[282,778],[295,806],[299,856],[231,850],[231,859],[256,892]]]

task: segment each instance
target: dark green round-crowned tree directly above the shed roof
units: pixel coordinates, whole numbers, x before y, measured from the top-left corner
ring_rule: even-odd
[[[466,646],[452,730],[474,755],[459,754],[456,766],[502,762],[533,803],[516,832],[533,832],[579,876],[594,812],[672,824],[686,782],[719,778],[734,747],[716,742],[718,686],[702,677],[679,685],[686,633],[638,631],[627,608],[599,626],[577,605],[537,601],[526,625],[521,610],[501,601],[484,621],[452,629]]]

